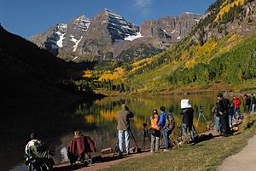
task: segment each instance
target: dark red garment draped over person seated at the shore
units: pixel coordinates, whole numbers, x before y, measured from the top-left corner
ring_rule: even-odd
[[[72,152],[73,154],[81,157],[86,152],[96,152],[95,143],[89,136],[73,138],[68,145],[68,152]]]

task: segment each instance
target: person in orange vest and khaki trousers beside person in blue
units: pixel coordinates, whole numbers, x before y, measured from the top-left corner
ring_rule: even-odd
[[[158,152],[160,147],[160,127],[157,126],[159,121],[159,114],[156,109],[153,110],[152,116],[150,117],[151,123],[151,148],[150,152]]]

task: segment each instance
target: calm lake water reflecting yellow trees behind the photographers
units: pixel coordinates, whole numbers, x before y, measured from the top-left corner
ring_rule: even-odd
[[[57,105],[22,105],[22,107],[4,108],[5,115],[1,120],[0,130],[0,170],[21,170],[24,168],[24,147],[29,134],[34,131],[42,140],[55,151],[54,160],[67,161],[67,145],[73,139],[73,130],[79,128],[84,135],[89,135],[96,143],[97,153],[104,148],[114,149],[117,142],[116,112],[120,110],[123,101],[134,112],[131,120],[131,130],[138,145],[142,145],[143,123],[149,124],[149,117],[154,108],[161,105],[173,109],[175,120],[180,123],[180,100],[189,99],[195,109],[197,121],[199,106],[203,106],[207,120],[212,121],[212,106],[216,102],[216,94],[204,95],[166,95],[166,96],[134,96],[134,97],[108,97],[90,102],[77,102],[73,105],[56,109]],[[204,131],[206,123],[200,123],[200,131]],[[177,130],[175,130],[177,131]],[[149,148],[149,140],[146,140]],[[131,146],[134,141],[131,140]],[[20,165],[21,164],[21,165]]]

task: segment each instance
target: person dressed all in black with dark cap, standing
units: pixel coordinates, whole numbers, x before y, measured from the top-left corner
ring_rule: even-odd
[[[218,93],[218,114],[220,117],[221,128],[224,132],[224,137],[231,135],[230,124],[229,124],[229,105],[230,100],[225,99],[223,94]]]

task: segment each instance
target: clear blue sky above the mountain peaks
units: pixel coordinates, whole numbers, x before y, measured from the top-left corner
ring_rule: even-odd
[[[92,18],[111,9],[125,20],[140,25],[183,12],[204,14],[215,0],[0,0],[2,26],[21,37],[30,37],[57,23],[67,23],[79,14]]]

